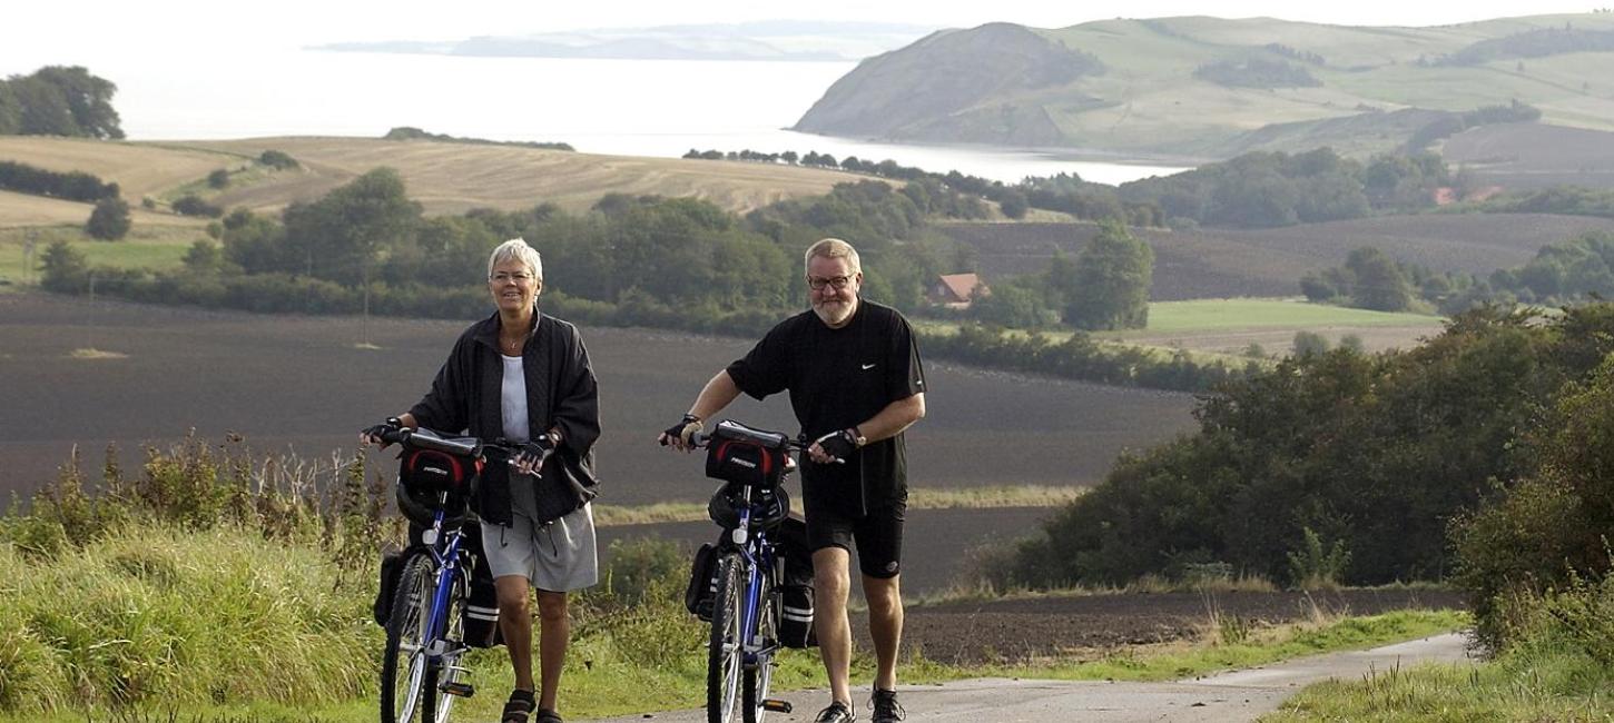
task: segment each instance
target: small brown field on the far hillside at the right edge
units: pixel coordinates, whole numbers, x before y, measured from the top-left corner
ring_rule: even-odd
[[[1608,131],[1540,123],[1480,126],[1448,139],[1440,153],[1453,168],[1472,171],[1480,186],[1614,187],[1614,132]]]

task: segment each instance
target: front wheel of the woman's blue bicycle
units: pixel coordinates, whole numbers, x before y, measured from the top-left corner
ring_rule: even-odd
[[[431,555],[413,555],[399,576],[381,658],[381,723],[433,723],[436,667],[426,657],[431,637],[431,597],[436,591]]]

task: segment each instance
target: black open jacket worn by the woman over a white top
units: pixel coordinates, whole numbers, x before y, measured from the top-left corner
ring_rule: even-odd
[[[544,476],[560,474],[584,500],[594,497],[594,442],[600,436],[599,382],[589,365],[578,328],[536,313],[533,336],[521,350],[526,376],[528,428],[542,434],[560,428],[562,442]],[[420,426],[441,433],[466,431],[481,439],[504,436],[500,391],[504,362],[499,358],[499,313],[478,321],[460,334],[431,391],[410,415]],[[536,486],[523,486],[536,491]],[[534,492],[536,494],[536,492]],[[487,465],[471,507],[487,523],[512,521],[510,476],[505,465]]]

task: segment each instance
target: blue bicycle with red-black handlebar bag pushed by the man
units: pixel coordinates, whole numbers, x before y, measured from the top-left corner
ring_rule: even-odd
[[[712,434],[691,442],[707,449],[707,476],[726,484],[709,512],[723,526],[725,541],[710,547],[710,621],[707,644],[707,720],[760,723],[768,712],[789,713],[784,700],[768,699],[773,657],[788,641],[805,647],[812,607],[788,605],[781,539],[791,505],[780,483],[796,468],[791,452],[805,445],[780,433],[723,420]],[[799,521],[792,523],[799,524]],[[805,537],[805,528],[802,528]],[[809,573],[810,576],[810,573]],[[704,615],[704,608],[700,613]]]

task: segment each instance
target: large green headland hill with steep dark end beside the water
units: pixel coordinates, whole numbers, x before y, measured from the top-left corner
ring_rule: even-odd
[[[996,23],[865,60],[796,129],[1196,158],[1319,145],[1391,150],[1443,115],[1512,100],[1540,108],[1546,124],[1614,129],[1614,79],[1599,73],[1614,63],[1604,34],[1614,34],[1614,15],[1440,27],[1272,18],[1064,29]],[[915,97],[946,102],[893,111]],[[1409,110],[1417,113],[1396,113]]]

